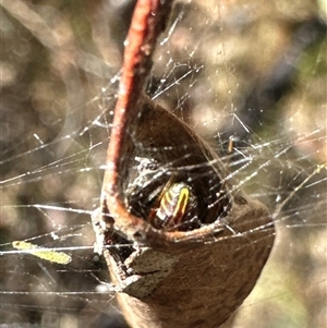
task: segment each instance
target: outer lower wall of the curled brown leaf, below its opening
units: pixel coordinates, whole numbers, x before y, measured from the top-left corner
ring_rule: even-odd
[[[226,228],[215,238],[211,224],[208,242],[201,236],[182,247],[141,246],[124,260],[126,278],[106,253],[112,280],[125,284],[118,300],[131,327],[214,328],[233,314],[254,288],[274,243],[267,209],[246,201],[230,211],[237,219],[230,228],[239,234]]]

